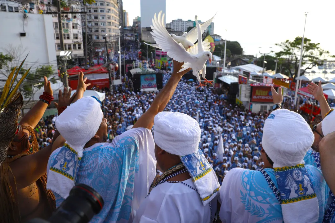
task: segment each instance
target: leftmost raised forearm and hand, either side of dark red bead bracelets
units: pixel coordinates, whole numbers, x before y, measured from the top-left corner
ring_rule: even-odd
[[[44,77],[44,92],[52,95],[52,88],[50,81],[48,81],[47,77]],[[20,121],[20,125],[28,125],[31,128],[35,128],[36,125],[39,123],[41,118],[43,117],[43,114],[45,110],[47,109],[49,104],[38,101],[28,112],[23,116],[23,118]],[[25,131],[25,130],[24,130]],[[25,131],[29,134],[28,131]]]

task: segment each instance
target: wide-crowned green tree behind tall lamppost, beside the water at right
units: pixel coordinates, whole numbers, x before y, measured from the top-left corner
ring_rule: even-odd
[[[276,52],[276,56],[278,58],[285,59],[283,62],[283,66],[286,70],[286,75],[295,79],[298,73],[298,66],[301,50],[302,37],[297,36],[293,41],[286,40],[281,43],[276,43],[276,46],[279,46],[281,50]],[[320,47],[320,43],[313,43],[311,39],[305,37],[304,40],[304,48],[303,48],[303,60],[301,65],[304,66],[305,69],[300,71],[300,74],[303,75],[307,70],[312,69],[314,66],[323,65],[323,61],[326,56],[329,54],[329,51],[324,50]]]

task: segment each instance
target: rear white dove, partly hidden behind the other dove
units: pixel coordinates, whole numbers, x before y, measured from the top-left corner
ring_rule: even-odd
[[[215,13],[215,15],[216,15],[216,13]],[[203,22],[203,23],[200,24],[201,30],[202,30],[201,34],[207,29],[207,27],[213,21],[215,15],[211,19],[209,19],[206,22]],[[191,48],[194,45],[194,43],[197,41],[197,39],[198,39],[197,34],[198,34],[197,33],[197,27],[195,26],[195,27],[193,27],[193,29],[191,29],[188,33],[185,33],[184,35],[181,35],[181,36],[177,36],[175,34],[170,34],[170,35],[174,40],[176,40],[176,42],[181,43],[184,46],[184,48],[187,50],[188,48]],[[149,45],[149,46],[159,48],[158,44],[149,44],[149,43],[146,43],[146,42],[144,42],[144,43]]]

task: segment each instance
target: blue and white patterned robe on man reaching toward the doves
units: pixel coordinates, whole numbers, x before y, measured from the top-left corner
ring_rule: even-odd
[[[50,156],[48,169],[60,148]],[[132,222],[156,175],[151,131],[134,128],[115,137],[112,143],[96,143],[83,150],[76,184],[96,190],[105,205],[90,222]],[[56,206],[64,199],[54,193]]]

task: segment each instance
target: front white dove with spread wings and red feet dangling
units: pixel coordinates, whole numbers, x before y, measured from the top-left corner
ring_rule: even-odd
[[[161,16],[162,11],[158,13],[158,17],[156,17],[156,13],[154,15],[154,18],[152,19],[152,36],[156,43],[158,44],[159,48],[161,48],[163,51],[167,53],[167,55],[174,60],[180,62],[180,63],[186,63],[184,67],[178,71],[181,72],[183,70],[187,70],[188,68],[192,68],[193,75],[197,77],[200,85],[198,87],[204,86],[200,82],[200,77],[198,72],[202,73],[203,77],[206,75],[206,61],[209,60],[209,63],[212,62],[212,53],[210,51],[205,51],[203,44],[197,44],[198,52],[196,54],[191,54],[190,52],[186,51],[184,46],[181,43],[176,42],[174,38],[167,32],[164,26],[164,16],[165,14]],[[201,27],[199,25],[199,22],[197,20],[197,16],[195,16],[196,24],[197,24],[197,32],[198,32],[198,42],[201,42]],[[192,49],[193,52],[193,49]],[[193,53],[195,53],[196,50],[194,50]],[[210,81],[205,79],[206,83],[211,83]],[[212,83],[211,83],[212,84]],[[197,87],[197,88],[198,88]]]

